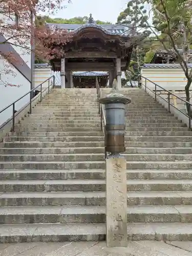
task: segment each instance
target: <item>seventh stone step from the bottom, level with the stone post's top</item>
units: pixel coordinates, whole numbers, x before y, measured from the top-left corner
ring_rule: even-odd
[[[122,154],[127,161],[191,161],[192,154]],[[32,155],[0,155],[0,161],[102,161],[104,153],[92,154],[32,154]]]

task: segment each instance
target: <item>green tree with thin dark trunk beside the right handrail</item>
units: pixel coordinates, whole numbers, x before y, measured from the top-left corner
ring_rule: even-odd
[[[149,12],[146,6],[152,6]],[[153,11],[153,20],[150,14]],[[190,58],[189,46],[192,44],[192,9],[190,0],[131,0],[127,8],[120,13],[118,22],[133,26],[136,34],[148,34],[153,44],[160,45],[170,55],[176,56],[187,79],[185,86],[186,101],[190,101],[189,88],[192,82],[192,70],[187,63]],[[140,36],[139,43],[143,41]],[[183,51],[178,48],[182,47]],[[187,104],[189,114],[189,104]]]

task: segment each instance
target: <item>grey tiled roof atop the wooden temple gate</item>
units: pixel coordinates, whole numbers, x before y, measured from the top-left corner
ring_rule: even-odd
[[[123,25],[98,25],[94,23],[88,23],[88,24],[54,24],[54,23],[47,23],[49,27],[55,27],[58,29],[66,29],[68,32],[78,32],[81,29],[84,28],[98,28],[101,29],[106,34],[110,35],[128,35],[131,32],[131,29],[123,26]]]

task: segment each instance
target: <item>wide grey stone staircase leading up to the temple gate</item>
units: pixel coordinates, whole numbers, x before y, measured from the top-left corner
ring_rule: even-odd
[[[141,89],[122,92],[127,236],[192,240],[192,133]],[[54,89],[0,144],[0,242],[105,239],[96,89]]]

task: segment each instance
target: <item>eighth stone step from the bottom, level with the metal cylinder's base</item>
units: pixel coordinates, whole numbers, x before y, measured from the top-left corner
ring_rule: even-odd
[[[14,144],[13,144],[14,146]],[[13,147],[0,148],[0,154],[92,154],[104,153],[104,147]],[[192,147],[128,147],[129,154],[192,154]]]

